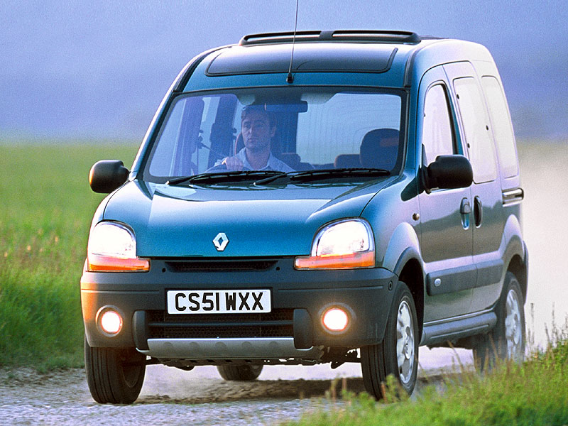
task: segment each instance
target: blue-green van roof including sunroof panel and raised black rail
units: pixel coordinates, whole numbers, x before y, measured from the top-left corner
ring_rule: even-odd
[[[409,31],[260,33],[245,35],[239,44],[202,55],[199,74],[204,77],[267,75],[288,73],[288,70],[294,74],[387,74],[389,81],[408,86],[413,75],[459,60],[493,59],[488,50],[477,43],[420,36]],[[395,75],[397,78],[393,78]],[[178,86],[178,90],[183,87]]]

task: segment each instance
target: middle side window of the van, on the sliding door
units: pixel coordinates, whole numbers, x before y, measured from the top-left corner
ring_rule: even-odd
[[[464,124],[474,182],[482,183],[497,178],[495,148],[489,133],[484,99],[474,77],[454,80],[457,103]]]

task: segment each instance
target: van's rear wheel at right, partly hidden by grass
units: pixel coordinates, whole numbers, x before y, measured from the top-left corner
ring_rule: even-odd
[[[479,337],[474,347],[474,363],[480,372],[491,371],[501,361],[523,362],[525,357],[525,301],[513,273],[505,275],[503,293],[497,302],[497,324]]]

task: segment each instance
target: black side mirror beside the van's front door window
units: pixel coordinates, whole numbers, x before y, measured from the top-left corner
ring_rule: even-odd
[[[474,181],[471,163],[463,155],[438,155],[423,173],[427,192],[435,188],[466,188]]]

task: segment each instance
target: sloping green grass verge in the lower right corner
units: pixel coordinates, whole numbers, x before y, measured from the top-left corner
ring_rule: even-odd
[[[545,351],[536,351],[523,365],[501,364],[484,377],[462,369],[459,379],[448,376],[443,392],[432,385],[416,400],[387,392],[385,404],[366,393],[344,391],[340,406],[307,413],[300,421],[283,425],[568,425],[566,324],[562,332],[555,332],[553,340]]]

